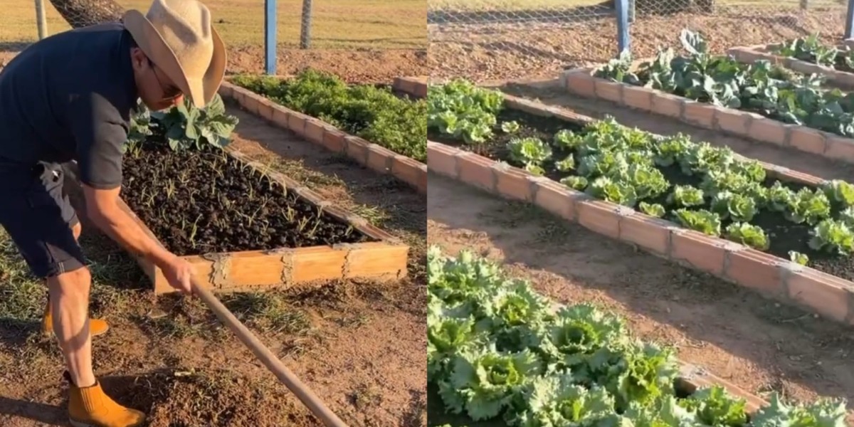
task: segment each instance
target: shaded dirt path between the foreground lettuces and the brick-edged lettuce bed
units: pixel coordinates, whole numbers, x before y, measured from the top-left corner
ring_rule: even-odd
[[[675,345],[682,360],[757,395],[854,398],[849,330],[529,205],[431,175],[428,243],[503,260],[558,301],[616,310],[640,336]]]

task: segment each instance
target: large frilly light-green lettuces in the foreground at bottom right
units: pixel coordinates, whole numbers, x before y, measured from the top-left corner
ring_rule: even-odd
[[[675,349],[638,340],[625,319],[559,305],[469,250],[431,247],[428,271],[428,382],[447,414],[468,418],[454,424],[845,425],[842,399],[765,402],[681,377]]]

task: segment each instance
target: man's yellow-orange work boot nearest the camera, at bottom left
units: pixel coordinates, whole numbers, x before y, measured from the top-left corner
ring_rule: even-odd
[[[79,388],[68,381],[68,422],[73,427],[139,427],[145,421],[145,414],[136,409],[122,407],[104,394],[100,383]]]

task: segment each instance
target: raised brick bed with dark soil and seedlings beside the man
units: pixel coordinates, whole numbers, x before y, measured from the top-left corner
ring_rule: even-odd
[[[122,208],[149,237],[216,291],[406,276],[407,245],[232,149],[236,124],[219,97],[204,110],[134,117]],[[155,294],[173,291],[137,260]]]

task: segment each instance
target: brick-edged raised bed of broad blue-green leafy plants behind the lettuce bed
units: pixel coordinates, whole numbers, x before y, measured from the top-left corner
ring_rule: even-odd
[[[854,95],[768,61],[746,64],[707,54],[705,42],[691,32],[682,38],[687,56],[664,50],[640,64],[624,56],[565,72],[562,84],[582,97],[854,162]]]

